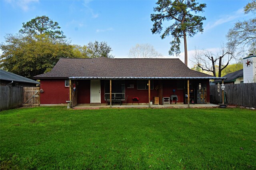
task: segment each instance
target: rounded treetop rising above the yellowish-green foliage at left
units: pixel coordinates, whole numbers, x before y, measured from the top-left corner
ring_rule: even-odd
[[[48,16],[37,16],[26,24],[22,23],[22,25],[22,29],[19,31],[22,34],[31,36],[46,34],[55,40],[66,38],[60,31],[58,22],[53,22]]]

